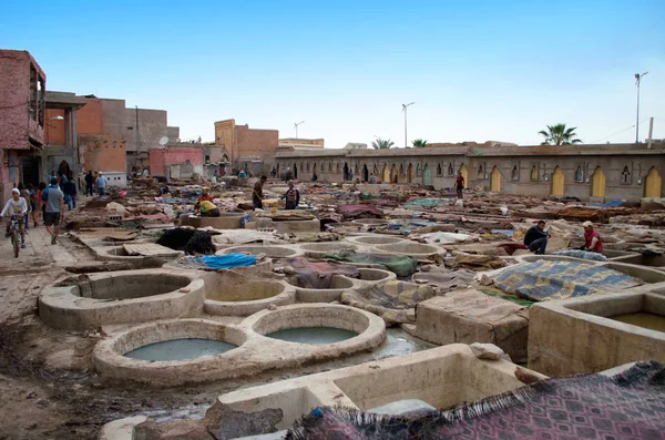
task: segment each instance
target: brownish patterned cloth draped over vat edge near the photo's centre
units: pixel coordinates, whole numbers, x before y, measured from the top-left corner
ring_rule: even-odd
[[[416,321],[416,305],[434,295],[434,289],[429,286],[390,280],[362,293],[345,291],[341,304],[378,315],[387,325],[407,324]]]

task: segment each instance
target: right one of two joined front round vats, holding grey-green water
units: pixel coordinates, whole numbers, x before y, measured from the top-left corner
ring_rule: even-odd
[[[243,326],[288,344],[334,346],[369,339],[371,346],[386,337],[386,325],[378,316],[331,304],[298,304],[264,310],[245,319]]]

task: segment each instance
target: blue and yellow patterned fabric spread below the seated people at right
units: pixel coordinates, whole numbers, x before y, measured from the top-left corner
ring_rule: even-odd
[[[499,289],[532,301],[622,291],[641,284],[621,272],[580,262],[539,260],[509,267],[494,278]]]

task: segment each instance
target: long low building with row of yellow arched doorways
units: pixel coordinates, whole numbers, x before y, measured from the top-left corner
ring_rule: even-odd
[[[297,178],[467,187],[492,193],[566,196],[582,201],[640,199],[664,194],[665,144],[464,146],[279,152],[278,170]]]

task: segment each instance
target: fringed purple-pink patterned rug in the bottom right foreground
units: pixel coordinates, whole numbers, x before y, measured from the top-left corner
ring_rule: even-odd
[[[665,439],[665,366],[641,362],[607,378],[548,379],[449,411],[381,416],[317,408],[287,440]]]

